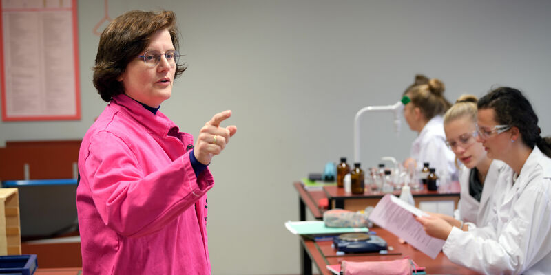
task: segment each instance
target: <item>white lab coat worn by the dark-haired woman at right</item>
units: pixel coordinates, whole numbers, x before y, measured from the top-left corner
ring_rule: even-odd
[[[551,274],[551,159],[534,146],[514,184],[506,168],[506,188],[490,225],[453,228],[444,254],[485,274]]]

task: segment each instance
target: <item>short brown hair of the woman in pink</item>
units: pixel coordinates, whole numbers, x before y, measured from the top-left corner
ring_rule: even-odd
[[[125,93],[118,77],[125,72],[128,63],[147,48],[151,36],[165,29],[170,33],[174,48],[178,50],[178,28],[174,12],[132,10],[107,25],[99,39],[96,65],[93,68],[94,87],[103,100],[109,102],[113,96]],[[174,78],[180,76],[186,67],[185,64],[176,64]]]

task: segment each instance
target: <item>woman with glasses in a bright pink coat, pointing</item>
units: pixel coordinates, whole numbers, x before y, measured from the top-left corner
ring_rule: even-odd
[[[160,104],[178,63],[174,12],[132,11],[100,37],[94,86],[110,102],[87,131],[76,194],[83,273],[210,274],[207,168],[236,133],[214,115],[193,137]]]

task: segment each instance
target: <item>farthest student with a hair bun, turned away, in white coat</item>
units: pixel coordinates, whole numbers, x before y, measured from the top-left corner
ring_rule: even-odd
[[[419,133],[411,144],[410,158],[404,161],[407,168],[421,170],[424,162],[436,169],[440,178],[457,179],[455,155],[446,146],[442,115],[451,104],[442,95],[444,83],[426,76],[415,76],[415,83],[404,91],[410,102],[404,106],[404,118],[411,130]]]

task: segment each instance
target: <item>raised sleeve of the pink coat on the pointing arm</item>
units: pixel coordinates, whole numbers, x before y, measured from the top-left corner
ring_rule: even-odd
[[[83,166],[103,223],[129,237],[160,230],[214,184],[208,169],[196,178],[189,153],[144,175],[129,146],[105,131],[92,138]]]

